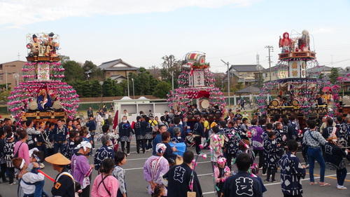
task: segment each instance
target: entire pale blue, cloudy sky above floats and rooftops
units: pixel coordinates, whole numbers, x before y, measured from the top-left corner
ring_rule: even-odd
[[[160,67],[164,55],[183,59],[197,50],[207,54],[213,72],[225,72],[221,59],[253,64],[257,53],[268,67],[267,45],[274,46],[275,64],[279,36],[307,29],[320,64],[350,66],[347,0],[47,2],[0,0],[0,62],[18,60],[18,53],[25,60],[26,34],[54,32],[60,53],[78,62],[121,58],[135,67]]]

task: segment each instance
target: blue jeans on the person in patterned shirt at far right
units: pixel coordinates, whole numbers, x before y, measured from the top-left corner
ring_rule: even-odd
[[[307,156],[309,156],[309,174],[310,174],[310,182],[315,182],[314,179],[314,167],[315,160],[320,164],[320,182],[325,181],[325,160],[322,156],[321,148],[312,148],[309,147],[307,149]]]

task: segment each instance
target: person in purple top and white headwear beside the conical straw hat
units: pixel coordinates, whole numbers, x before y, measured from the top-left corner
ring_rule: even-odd
[[[87,154],[89,154],[92,149],[90,142],[80,142],[78,145],[78,151],[76,154],[71,156],[71,174],[74,179],[80,183],[81,189],[83,190],[82,196],[90,196],[90,175],[92,169],[94,169],[93,164],[89,164],[87,160]]]

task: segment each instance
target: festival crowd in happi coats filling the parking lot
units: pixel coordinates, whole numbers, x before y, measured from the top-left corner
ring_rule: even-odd
[[[350,115],[344,121],[340,116],[335,120],[329,116],[322,121],[307,120],[307,127],[301,130],[295,114],[270,118],[256,111],[249,117],[236,109],[229,110],[226,117],[208,121],[205,114],[188,120],[171,110],[159,120],[150,110],[148,115],[140,111],[137,121],[130,123],[125,110],[113,130],[111,117],[102,118],[104,109],[95,116],[89,109],[87,114],[87,121],[0,121],[2,182],[13,185],[17,178],[20,196],[51,196],[43,191],[45,174],[41,169],[45,168],[43,161],[47,161],[59,172],[52,186],[53,196],[125,197],[123,165],[135,135],[135,154],[153,153],[144,163],[144,179],[151,196],[202,196],[195,172],[197,158],[204,157],[202,149],[211,152],[218,196],[262,196],[266,191],[263,182],[281,182],[284,196],[302,196],[300,179],[306,175],[306,168],[311,185],[330,186],[324,179],[328,167],[336,170],[337,189],[346,189],[343,158],[350,161],[350,151],[337,142],[349,140]],[[95,152],[94,142],[102,143]],[[172,143],[194,143],[195,153],[180,153]],[[306,165],[295,155],[297,149],[301,149]],[[94,157],[93,163],[89,163],[89,156]],[[314,179],[315,161],[321,166],[319,182]],[[275,176],[278,169],[280,178]],[[94,180],[93,170],[98,173]]]

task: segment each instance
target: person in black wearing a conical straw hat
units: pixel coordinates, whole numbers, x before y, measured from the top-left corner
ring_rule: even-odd
[[[52,164],[53,170],[56,170],[59,174],[55,179],[55,184],[51,189],[53,197],[74,197],[74,179],[73,176],[69,174],[66,165],[71,163],[71,161],[60,153],[48,156],[45,161]]]

